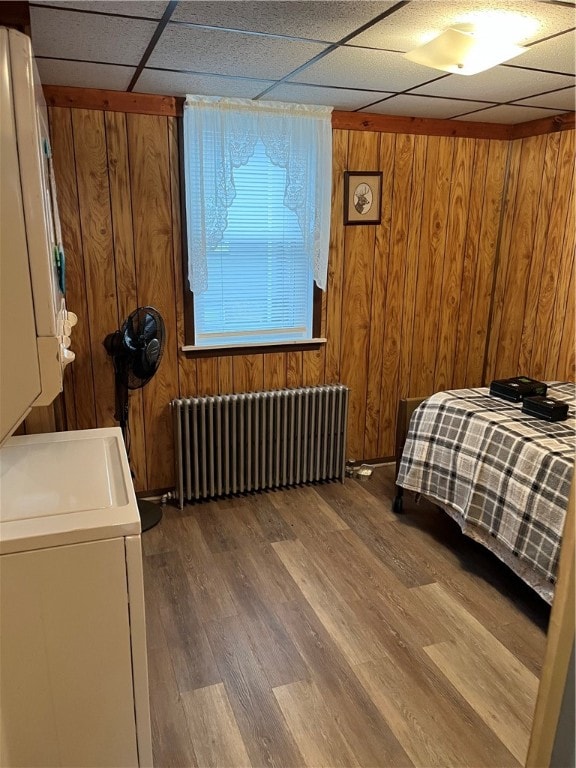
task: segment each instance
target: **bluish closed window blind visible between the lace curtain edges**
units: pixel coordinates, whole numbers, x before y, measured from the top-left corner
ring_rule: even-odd
[[[258,141],[234,170],[234,186],[222,240],[206,249],[208,287],[194,300],[196,344],[310,339],[312,265],[296,214],[284,205],[286,170]]]

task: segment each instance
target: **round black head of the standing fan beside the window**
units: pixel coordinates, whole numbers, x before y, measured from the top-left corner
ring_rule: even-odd
[[[120,329],[122,352],[126,356],[126,384],[139,389],[156,373],[164,351],[164,321],[154,307],[139,307]]]

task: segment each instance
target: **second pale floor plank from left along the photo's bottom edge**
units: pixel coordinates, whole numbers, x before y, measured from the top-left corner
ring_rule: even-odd
[[[284,685],[274,688],[274,695],[307,768],[356,768],[360,765],[315,683],[303,680]]]

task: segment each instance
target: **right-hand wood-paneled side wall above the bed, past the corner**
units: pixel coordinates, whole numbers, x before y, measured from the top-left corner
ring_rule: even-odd
[[[575,132],[515,141],[487,378],[574,381]]]

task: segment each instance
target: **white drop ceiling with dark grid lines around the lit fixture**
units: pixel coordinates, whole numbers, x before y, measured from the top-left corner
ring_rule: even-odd
[[[404,58],[495,11],[532,21],[520,57],[469,77]],[[575,109],[573,2],[36,0],[30,18],[50,85],[510,124]]]

